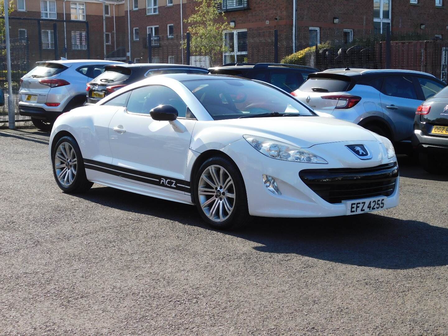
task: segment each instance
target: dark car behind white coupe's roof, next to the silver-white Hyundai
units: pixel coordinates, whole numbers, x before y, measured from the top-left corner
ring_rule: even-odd
[[[177,64],[123,64],[108,65],[104,72],[87,83],[87,104],[95,104],[123,86],[144,78],[165,73],[208,73],[207,69]]]

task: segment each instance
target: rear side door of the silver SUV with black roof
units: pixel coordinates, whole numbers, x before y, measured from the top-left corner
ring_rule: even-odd
[[[412,76],[387,76],[380,93],[384,118],[394,129],[395,141],[407,140],[412,135],[415,110],[422,103],[415,90]]]

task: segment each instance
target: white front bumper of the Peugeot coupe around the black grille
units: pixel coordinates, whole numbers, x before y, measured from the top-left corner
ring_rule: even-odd
[[[348,143],[349,144],[349,143]],[[330,143],[310,147],[316,155],[327,159],[328,164],[306,164],[289,162],[267,157],[252,148],[241,139],[225,146],[222,151],[229,155],[241,171],[246,186],[247,203],[250,215],[263,217],[332,217],[346,215],[346,205],[330,203],[308,187],[299,176],[299,172],[319,168],[366,168],[396,161],[396,158],[384,156],[383,144],[370,160],[360,160],[349,151],[345,152],[345,143]],[[372,145],[373,146],[373,145]],[[372,149],[369,146],[370,149]],[[341,148],[340,153],[336,148]],[[331,159],[337,155],[339,159]],[[353,158],[350,156],[352,155]],[[350,162],[351,161],[351,162]],[[274,177],[281,195],[271,193],[263,183],[263,174]],[[390,194],[390,193],[389,193]],[[384,209],[396,207],[399,202],[399,177],[392,194],[387,197]]]

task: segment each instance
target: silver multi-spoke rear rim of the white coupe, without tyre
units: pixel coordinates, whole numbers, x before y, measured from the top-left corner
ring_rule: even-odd
[[[64,187],[71,185],[76,177],[78,162],[75,150],[69,142],[62,142],[57,147],[54,165],[59,183]]]

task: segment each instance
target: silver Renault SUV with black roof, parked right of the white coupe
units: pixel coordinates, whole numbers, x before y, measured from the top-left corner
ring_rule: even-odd
[[[292,94],[316,111],[408,141],[417,107],[446,84],[409,70],[329,69],[311,73]]]

